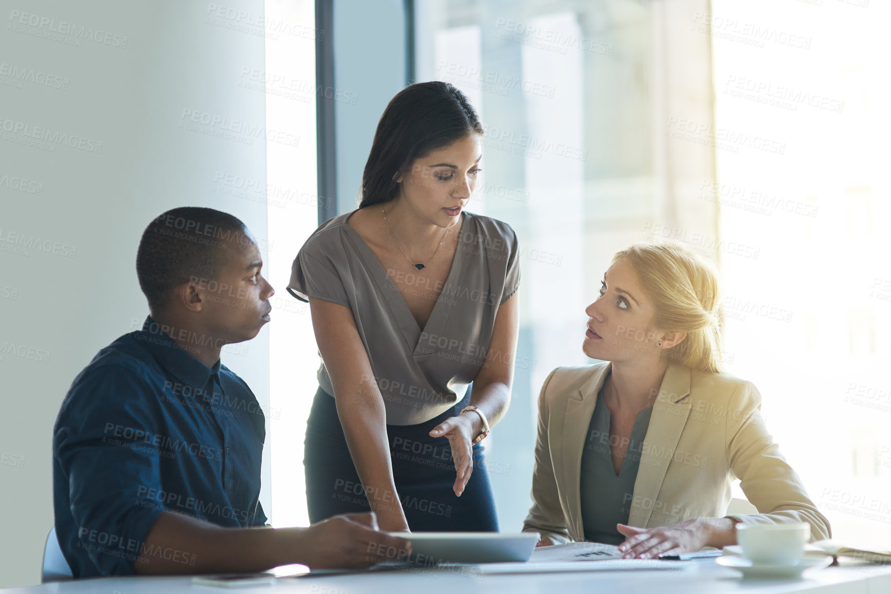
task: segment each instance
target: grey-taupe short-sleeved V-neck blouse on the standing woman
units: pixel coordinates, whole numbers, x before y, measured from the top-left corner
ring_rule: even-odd
[[[498,307],[519,288],[517,235],[509,224],[464,211],[452,270],[421,329],[388,271],[347,224],[352,214],[329,219],[309,236],[294,260],[288,291],[303,301],[315,297],[349,307],[388,425],[423,423],[460,402],[482,368]],[[390,273],[405,273],[405,282],[413,282],[410,272]],[[324,362],[318,379],[335,395]]]

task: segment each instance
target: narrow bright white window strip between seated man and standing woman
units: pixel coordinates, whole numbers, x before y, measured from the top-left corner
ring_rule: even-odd
[[[290,265],[318,226],[315,169],[315,6],[313,0],[266,1],[266,71],[245,85],[266,93],[266,128],[299,130],[297,142],[266,142],[269,251],[266,278],[276,293],[269,328],[269,375],[273,509],[276,527],[307,525],[303,436],[318,383],[319,364],[309,305],[285,290]]]

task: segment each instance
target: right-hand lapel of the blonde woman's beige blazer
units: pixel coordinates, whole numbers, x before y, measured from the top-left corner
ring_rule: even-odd
[[[683,427],[690,415],[690,374],[683,365],[669,365],[653,404],[650,427],[643,439],[643,452],[628,524],[647,527],[657,497],[665,480],[668,465],[674,458],[674,448],[681,439]]]

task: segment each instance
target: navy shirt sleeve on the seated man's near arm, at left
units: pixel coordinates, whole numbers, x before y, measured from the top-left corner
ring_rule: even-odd
[[[151,436],[165,432],[140,383],[123,367],[93,370],[63,406],[53,436],[53,453],[68,479],[77,546],[101,575],[134,573],[143,542],[165,510],[149,497],[163,489]]]

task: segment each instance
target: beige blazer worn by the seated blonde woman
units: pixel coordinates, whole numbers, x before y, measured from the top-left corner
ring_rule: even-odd
[[[538,397],[532,509],[524,531],[556,543],[584,541],[579,475],[585,435],[611,363],[558,367]],[[830,538],[830,523],[782,457],[761,417],[751,382],[670,365],[643,440],[629,495],[628,524],[653,528],[692,517],[723,517],[731,483],[757,514],[745,524],[807,522],[811,540]]]

